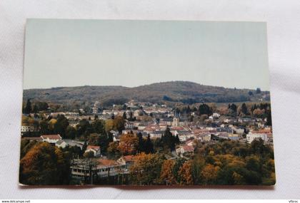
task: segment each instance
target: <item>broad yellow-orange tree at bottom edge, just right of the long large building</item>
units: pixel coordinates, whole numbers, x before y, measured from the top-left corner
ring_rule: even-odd
[[[134,157],[134,163],[129,168],[131,184],[158,184],[161,175],[163,159],[158,154],[146,155],[142,152]]]

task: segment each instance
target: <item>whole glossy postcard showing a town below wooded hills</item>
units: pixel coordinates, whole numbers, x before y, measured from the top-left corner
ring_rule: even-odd
[[[264,22],[28,19],[24,57],[20,184],[275,184]]]

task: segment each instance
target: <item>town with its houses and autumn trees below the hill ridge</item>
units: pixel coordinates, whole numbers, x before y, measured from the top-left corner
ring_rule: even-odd
[[[20,159],[22,184],[274,184],[271,105],[28,99]]]

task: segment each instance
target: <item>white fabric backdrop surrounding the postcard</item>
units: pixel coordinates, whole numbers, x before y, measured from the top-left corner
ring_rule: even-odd
[[[26,18],[266,21],[276,186],[55,188],[18,185]],[[0,1],[0,199],[299,199],[300,1]],[[255,80],[255,78],[253,78]],[[47,80],[45,76],[45,80]]]

